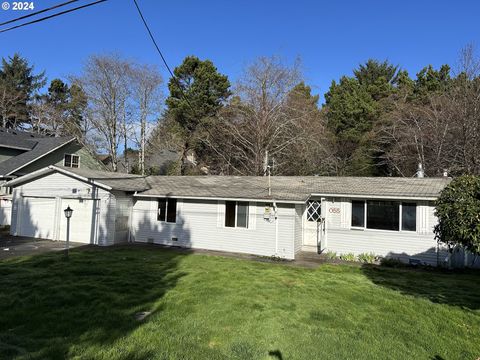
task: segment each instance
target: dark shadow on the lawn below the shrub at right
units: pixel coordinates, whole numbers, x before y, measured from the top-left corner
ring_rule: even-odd
[[[365,264],[362,272],[373,283],[402,294],[439,304],[480,309],[480,272],[475,270],[392,269]]]

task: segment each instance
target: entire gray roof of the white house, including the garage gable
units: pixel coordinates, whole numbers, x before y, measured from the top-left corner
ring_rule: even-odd
[[[138,196],[198,199],[251,199],[305,202],[312,195],[333,197],[435,199],[449,178],[272,176],[271,195],[264,176],[141,176],[90,169],[50,166],[50,171],[70,172],[113,190]],[[43,169],[42,171],[45,172]],[[10,183],[15,186],[38,175]]]

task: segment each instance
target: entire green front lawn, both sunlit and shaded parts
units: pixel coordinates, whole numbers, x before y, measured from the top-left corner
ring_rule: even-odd
[[[478,273],[140,247],[0,261],[1,359],[478,357]]]

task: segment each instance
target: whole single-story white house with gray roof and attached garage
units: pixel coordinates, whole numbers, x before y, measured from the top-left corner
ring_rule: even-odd
[[[300,251],[443,262],[433,201],[448,178],[135,176],[50,166],[9,182],[12,235],[175,245],[294,259]]]

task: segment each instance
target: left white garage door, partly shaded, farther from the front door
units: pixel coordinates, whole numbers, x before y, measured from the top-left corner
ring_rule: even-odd
[[[55,228],[55,199],[24,197],[19,204],[20,236],[53,239]]]

